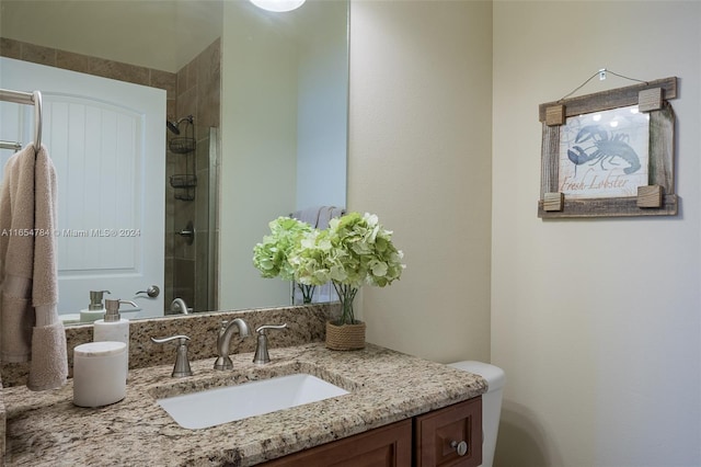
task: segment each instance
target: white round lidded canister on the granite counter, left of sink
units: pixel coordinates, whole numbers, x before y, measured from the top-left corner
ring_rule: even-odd
[[[127,394],[127,346],[124,342],[89,342],[73,349],[73,403],[102,407]]]

